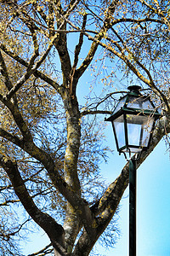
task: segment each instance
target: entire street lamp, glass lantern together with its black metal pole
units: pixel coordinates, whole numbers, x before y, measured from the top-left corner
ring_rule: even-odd
[[[129,154],[129,256],[136,255],[136,155],[150,147],[156,119],[156,111],[149,96],[143,96],[138,85],[129,86],[126,96],[119,99],[111,121],[119,154],[127,159]],[[134,156],[132,157],[132,153]]]

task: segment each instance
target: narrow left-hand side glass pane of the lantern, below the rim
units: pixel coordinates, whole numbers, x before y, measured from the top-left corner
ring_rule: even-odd
[[[126,145],[123,116],[120,116],[119,118],[115,119],[113,121],[113,125],[114,125],[115,131],[116,131],[118,147],[122,148],[123,146]]]

